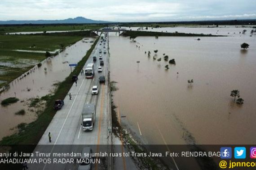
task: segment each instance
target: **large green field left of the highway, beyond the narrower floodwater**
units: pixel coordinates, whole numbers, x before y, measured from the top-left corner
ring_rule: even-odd
[[[45,59],[45,53],[13,50],[55,51],[73,44],[89,31],[45,35],[0,35],[0,87],[9,84]]]

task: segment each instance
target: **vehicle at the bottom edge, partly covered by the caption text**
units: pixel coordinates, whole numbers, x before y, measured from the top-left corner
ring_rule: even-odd
[[[91,147],[84,147],[79,160],[78,170],[92,170],[92,152]]]

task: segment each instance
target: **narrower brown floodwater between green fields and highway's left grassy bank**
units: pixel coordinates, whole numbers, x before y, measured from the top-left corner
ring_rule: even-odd
[[[9,84],[9,90],[0,93],[0,101],[15,96],[19,99],[17,103],[9,106],[0,106],[0,139],[13,134],[16,130],[14,127],[19,123],[30,123],[37,118],[36,111],[43,110],[43,107],[29,108],[29,99],[40,98],[52,93],[56,87],[54,84],[64,81],[70,74],[69,64],[77,64],[92,46],[93,43],[90,41],[94,42],[94,40],[94,38],[84,38],[72,46],[66,47],[65,51],[55,57],[42,61],[40,68],[37,66],[32,68],[26,77],[23,77],[25,75],[23,74],[15,79]],[[25,115],[15,115],[22,109],[26,111]]]

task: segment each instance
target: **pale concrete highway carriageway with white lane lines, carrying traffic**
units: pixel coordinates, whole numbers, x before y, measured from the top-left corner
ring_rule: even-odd
[[[45,151],[48,152],[58,152],[58,150],[66,150],[67,152],[74,148],[67,147],[66,144],[107,144],[108,135],[108,40],[106,40],[106,48],[99,45],[101,39],[98,41],[95,49],[88,58],[88,61],[84,65],[84,68],[88,63],[93,63],[93,56],[97,57],[97,61],[94,62],[95,76],[93,79],[86,79],[84,75],[78,76],[77,86],[75,83],[71,87],[69,93],[72,95],[72,99],[69,99],[69,93],[64,99],[64,106],[61,110],[57,111],[53,120],[49,124],[49,127],[44,132],[44,135],[39,141],[39,145],[35,148],[35,151]],[[99,66],[99,50],[102,50],[102,57],[104,60],[103,72],[98,73],[97,68]],[[103,51],[106,49],[107,53],[104,54]],[[105,76],[105,84],[98,83],[98,77],[100,75]],[[93,85],[99,86],[99,94],[92,95],[91,89]],[[93,127],[93,131],[84,132],[81,128],[81,113],[85,103],[95,103],[96,104],[96,120]],[[52,142],[49,143],[48,133],[52,134]],[[46,149],[44,144],[52,144]],[[98,150],[97,147],[95,150]],[[81,152],[81,148],[76,148],[78,152]],[[35,152],[34,151],[34,152]],[[33,164],[29,165],[33,170],[52,170],[52,169],[76,169],[77,165],[73,164]],[[99,167],[96,169],[100,169]]]

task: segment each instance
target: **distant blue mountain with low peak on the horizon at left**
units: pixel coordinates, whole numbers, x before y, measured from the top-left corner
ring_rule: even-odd
[[[96,21],[84,17],[68,18],[64,20],[28,20],[28,21],[0,21],[0,25],[4,24],[96,24],[96,23],[109,23],[109,21]]]

